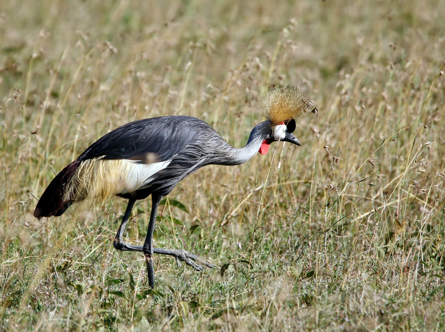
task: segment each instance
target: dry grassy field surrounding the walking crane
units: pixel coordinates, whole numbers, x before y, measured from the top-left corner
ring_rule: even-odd
[[[444,331],[444,18],[444,0],[1,1],[0,330]],[[142,254],[113,249],[118,198],[32,217],[132,120],[192,115],[242,147],[275,84],[320,112],[302,146],[202,168],[159,209],[155,245],[217,268],[156,256],[150,291]]]

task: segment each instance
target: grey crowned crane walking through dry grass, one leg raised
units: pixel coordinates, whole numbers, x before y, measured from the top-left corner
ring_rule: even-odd
[[[260,106],[259,112],[267,120],[253,128],[244,148],[231,147],[209,124],[191,116],[161,116],[114,129],[57,174],[40,197],[34,216],[61,216],[73,203],[119,196],[128,199],[128,205],[114,248],[144,252],[151,288],[153,254],[174,256],[178,264],[183,261],[197,271],[204,268],[197,262],[213,268],[185,250],[153,247],[158,204],[180,180],[202,166],[243,164],[256,152],[265,155],[275,141],[300,145],[292,135],[295,118],[303,112],[317,112],[311,100],[294,87],[270,90]],[[152,207],[144,245],[127,244],[122,236],[134,203],[150,194]]]

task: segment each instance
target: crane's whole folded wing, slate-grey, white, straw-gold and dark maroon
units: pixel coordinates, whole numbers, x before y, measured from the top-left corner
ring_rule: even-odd
[[[167,168],[175,156],[182,162],[182,155],[193,153],[186,152],[187,147],[211,131],[208,124],[191,116],[139,120],[114,129],[51,181],[34,216],[60,216],[71,204],[87,198],[106,199],[146,188],[154,174]],[[167,189],[176,182],[170,181]]]

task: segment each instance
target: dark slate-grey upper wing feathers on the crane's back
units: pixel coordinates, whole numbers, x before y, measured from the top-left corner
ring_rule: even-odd
[[[190,116],[163,116],[125,124],[101,137],[80,156],[84,161],[128,159],[143,164],[171,159],[194,140],[197,127],[208,126]]]

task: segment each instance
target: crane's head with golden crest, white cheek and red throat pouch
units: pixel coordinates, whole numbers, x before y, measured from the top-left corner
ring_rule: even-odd
[[[265,155],[269,151],[269,145],[276,141],[300,146],[299,140],[292,134],[296,128],[295,118],[309,111],[318,114],[312,101],[299,92],[298,88],[278,86],[269,90],[261,100],[259,108],[261,115],[267,119],[262,126],[265,138],[259,153]]]

